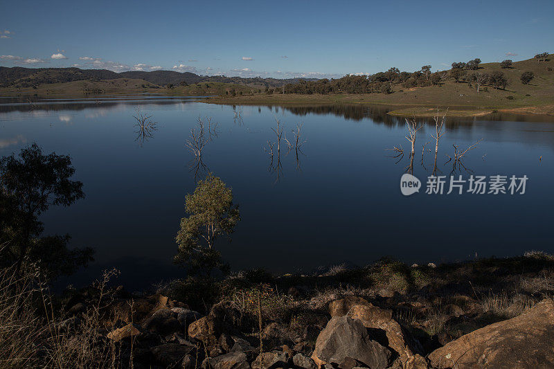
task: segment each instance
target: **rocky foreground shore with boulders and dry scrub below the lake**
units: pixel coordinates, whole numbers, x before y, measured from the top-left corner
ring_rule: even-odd
[[[118,287],[98,339],[134,368],[551,368],[553,267],[529,253],[314,276],[250,271],[217,282],[214,303],[202,291],[176,298],[190,281],[146,295]],[[65,324],[78,324],[96,294],[66,292]]]

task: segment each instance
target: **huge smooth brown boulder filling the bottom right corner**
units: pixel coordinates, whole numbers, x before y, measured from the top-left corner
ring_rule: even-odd
[[[554,368],[554,302],[487,325],[429,354],[436,368]]]

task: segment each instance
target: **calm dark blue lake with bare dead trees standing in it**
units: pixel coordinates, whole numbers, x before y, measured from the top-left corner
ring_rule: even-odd
[[[0,98],[0,154],[36,142],[73,159],[86,197],[69,208],[52,207],[43,220],[45,234],[69,233],[72,246],[96,250],[96,261],[74,283],[111,267],[129,288],[184,276],[172,265],[175,235],[185,195],[207,172],[233,188],[240,204],[232,242],[217,244],[233,270],[311,272],[384,255],[438,264],[554,251],[552,116],[447,117],[437,168],[446,184],[439,195],[426,193],[434,142],[422,160],[434,125],[418,132],[410,170],[406,123],[388,116],[386,107],[233,107],[161,96],[33,100]],[[137,107],[157,123],[143,140],[133,118]],[[186,148],[199,117],[217,123],[202,163]],[[302,123],[305,143],[297,156],[281,141],[272,162],[267,141],[276,140],[276,119],[289,141]],[[463,151],[481,139],[461,165],[449,161],[453,145]],[[389,149],[400,146],[404,156],[391,157],[397,153]],[[421,181],[410,196],[400,191],[406,172]],[[507,176],[507,193],[467,192],[465,182],[462,195],[447,195],[451,174],[465,181],[472,174]],[[524,194],[510,194],[512,175],[528,178]]]

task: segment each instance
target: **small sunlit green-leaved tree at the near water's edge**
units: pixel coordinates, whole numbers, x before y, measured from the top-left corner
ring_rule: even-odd
[[[186,195],[185,207],[189,216],[181,219],[175,237],[179,245],[175,263],[188,267],[189,275],[210,276],[213,269],[228,272],[214,246],[220,237],[230,239],[240,220],[233,191],[220,178],[208,174],[204,181],[198,181],[193,194]]]

